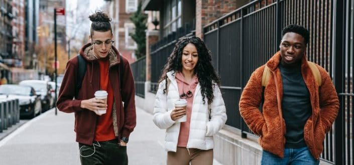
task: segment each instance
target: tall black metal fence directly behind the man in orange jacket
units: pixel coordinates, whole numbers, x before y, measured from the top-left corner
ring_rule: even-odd
[[[326,135],[321,158],[332,164],[352,164],[353,0],[253,1],[205,26],[204,41],[222,80],[226,124],[241,129],[243,137],[253,134],[239,112],[242,89],[251,73],[279,50],[281,30],[289,24],[310,31],[307,58],[329,72],[340,96],[335,129]]]

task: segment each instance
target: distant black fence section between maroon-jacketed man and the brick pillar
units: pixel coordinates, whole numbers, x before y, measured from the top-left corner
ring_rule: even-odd
[[[132,72],[135,80],[135,94],[145,98],[145,81],[146,81],[146,58],[140,58],[131,64]]]

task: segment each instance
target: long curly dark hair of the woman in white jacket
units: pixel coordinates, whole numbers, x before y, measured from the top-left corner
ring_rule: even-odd
[[[200,38],[191,36],[191,37],[183,37],[178,40],[176,43],[173,52],[170,57],[167,59],[167,63],[165,64],[162,75],[160,77],[159,82],[166,81],[167,75],[166,73],[169,71],[175,71],[173,75],[177,72],[182,71],[182,52],[183,48],[187,44],[193,44],[198,52],[198,62],[194,68],[194,74],[198,77],[198,81],[201,87],[201,94],[203,96],[203,104],[205,104],[204,98],[207,97],[208,104],[212,102],[214,98],[213,95],[213,82],[220,86],[220,77],[215,72],[214,67],[211,64],[211,52],[206,47],[205,43],[200,40]],[[166,93],[167,83],[163,93]]]

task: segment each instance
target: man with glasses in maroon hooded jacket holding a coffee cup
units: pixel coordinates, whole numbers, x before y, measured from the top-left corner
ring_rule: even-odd
[[[132,71],[128,61],[112,46],[111,19],[107,14],[96,11],[89,19],[92,21],[90,43],[80,50],[86,62],[81,88],[76,86],[81,80],[78,78],[79,60],[75,57],[66,65],[57,107],[60,111],[75,113],[74,130],[81,164],[126,165],[127,142],[136,126]],[[107,91],[106,103],[94,97],[98,90]],[[106,113],[99,113],[102,109]]]

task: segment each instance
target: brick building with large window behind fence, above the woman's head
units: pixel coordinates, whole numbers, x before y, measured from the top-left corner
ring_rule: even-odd
[[[249,0],[145,0],[143,10],[150,11],[149,29],[146,43],[146,80],[151,80],[151,46],[154,50],[164,47],[178,38],[195,34],[203,38],[202,29],[205,25],[222,17],[223,15],[242,7]],[[156,18],[159,29],[151,28]],[[157,43],[157,44],[156,44]],[[156,76],[155,76],[156,77]]]

